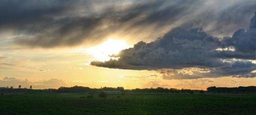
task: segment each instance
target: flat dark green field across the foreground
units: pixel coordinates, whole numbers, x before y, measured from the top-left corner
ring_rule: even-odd
[[[256,94],[59,94],[27,90],[0,95],[0,115],[255,115]],[[117,98],[121,96],[121,98]]]

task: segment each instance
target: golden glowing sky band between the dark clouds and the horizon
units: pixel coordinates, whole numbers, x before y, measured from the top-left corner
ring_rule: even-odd
[[[118,43],[118,44],[115,44]],[[117,46],[115,48],[115,46]],[[17,83],[34,88],[58,88],[59,86],[89,86],[100,88],[101,86],[123,86],[125,88],[191,88],[206,89],[208,86],[241,86],[255,85],[255,78],[203,78],[192,80],[164,80],[158,71],[136,71],[95,67],[89,65],[90,61],[106,61],[108,55],[118,53],[119,50],[129,48],[125,40],[109,39],[97,46],[90,48],[64,48],[55,50],[11,50],[5,51],[1,56],[8,56],[5,63],[13,63],[15,66],[8,66],[0,69],[0,78],[14,77]],[[103,51],[103,53],[101,52]],[[15,58],[19,57],[19,58]],[[193,68],[192,68],[193,69]],[[207,72],[207,70],[196,69],[196,71]],[[187,72],[185,69],[180,72]],[[189,71],[187,72],[191,74]],[[25,79],[29,83],[25,82]],[[50,81],[59,79],[62,81]],[[41,81],[41,82],[40,82]],[[45,85],[38,85],[45,84]],[[43,83],[42,83],[43,82]],[[46,82],[46,83],[44,83]],[[50,82],[50,83],[48,83]],[[54,85],[50,85],[52,84]],[[48,83],[48,84],[47,84]],[[1,84],[15,85],[15,83]]]

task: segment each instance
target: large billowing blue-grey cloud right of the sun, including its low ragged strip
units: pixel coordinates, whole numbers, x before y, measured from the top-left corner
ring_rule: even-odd
[[[255,13],[256,14],[256,13]],[[248,29],[239,29],[232,37],[208,35],[202,28],[175,28],[153,42],[138,42],[133,48],[113,54],[109,61],[92,61],[99,67],[132,70],[170,69],[164,79],[197,79],[204,77],[256,77],[255,15]],[[218,50],[220,49],[220,50]],[[233,50],[232,50],[233,49]],[[184,74],[177,69],[208,69],[209,72]],[[169,75],[171,73],[172,75]]]

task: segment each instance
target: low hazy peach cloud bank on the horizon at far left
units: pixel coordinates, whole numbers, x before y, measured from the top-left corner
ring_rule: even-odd
[[[43,81],[28,81],[16,79],[14,77],[5,77],[4,79],[0,79],[0,86],[6,87],[6,86],[13,86],[14,88],[17,88],[19,85],[21,85],[23,88],[29,88],[29,86],[32,85],[32,88],[35,89],[43,89],[43,88],[59,88],[60,86],[67,86],[67,83],[60,79],[50,79],[50,80],[43,80]]]

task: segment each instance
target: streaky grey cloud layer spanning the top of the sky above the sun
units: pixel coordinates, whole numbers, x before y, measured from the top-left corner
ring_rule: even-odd
[[[14,42],[43,48],[95,44],[113,33],[145,39],[173,27],[204,27],[229,35],[249,24],[254,2],[1,0],[0,33],[24,35]]]

